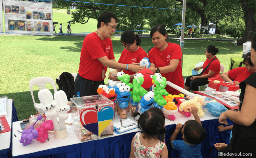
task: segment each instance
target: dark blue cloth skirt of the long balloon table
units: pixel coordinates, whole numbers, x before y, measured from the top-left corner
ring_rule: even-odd
[[[233,122],[227,120],[229,125]],[[228,144],[230,131],[218,132],[217,126],[221,125],[218,119],[203,121],[202,125],[206,130],[206,139],[201,144],[201,153],[203,158],[217,158],[217,150],[214,148],[216,143]],[[169,139],[176,124],[166,126],[167,134],[165,142],[169,150],[169,158],[178,158],[177,150],[170,145]],[[131,141],[136,132],[122,134],[116,137],[108,137],[101,140],[83,142],[81,144],[68,145],[65,147],[53,148],[42,152],[31,153],[27,155],[15,156],[15,158],[129,158],[131,151]],[[182,140],[181,132],[177,139]],[[43,156],[44,155],[44,156]]]

